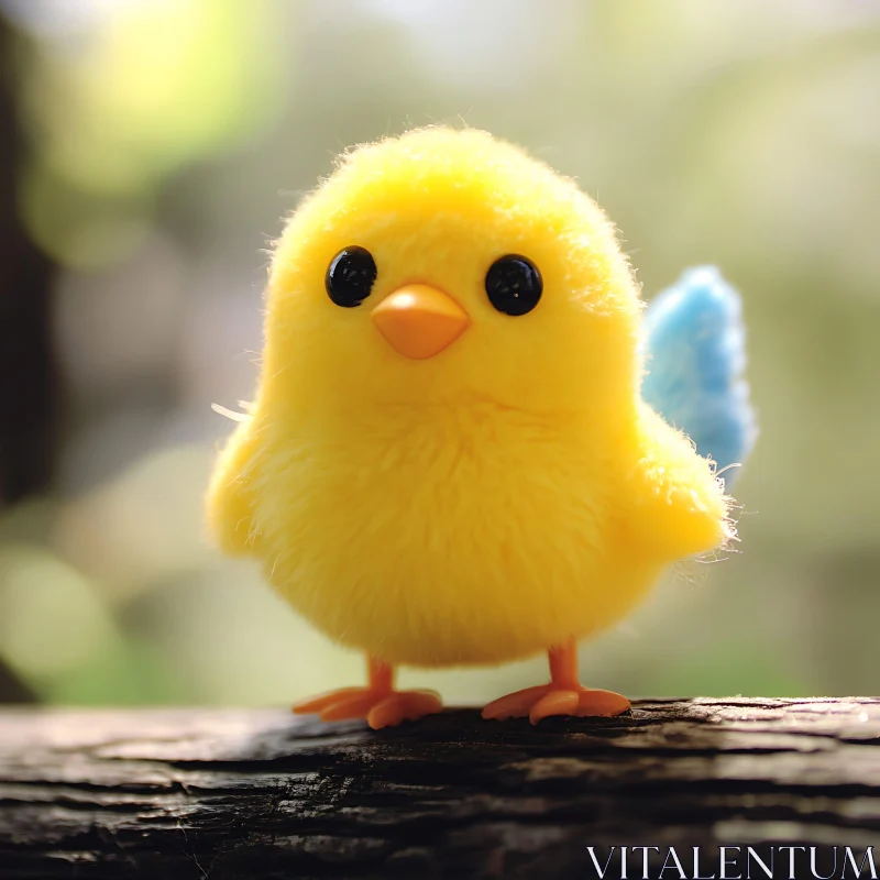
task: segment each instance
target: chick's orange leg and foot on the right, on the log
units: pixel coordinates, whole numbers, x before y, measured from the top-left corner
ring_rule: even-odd
[[[483,710],[484,718],[505,721],[528,715],[532,724],[550,715],[619,715],[629,708],[629,701],[613,691],[584,688],[578,681],[578,647],[570,639],[551,648],[550,684],[526,688],[490,703]]]

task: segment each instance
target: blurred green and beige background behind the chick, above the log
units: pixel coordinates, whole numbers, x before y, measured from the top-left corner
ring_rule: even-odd
[[[876,694],[880,3],[0,0],[0,698],[289,703],[353,683],[201,494],[266,248],[345,146],[485,128],[576,176],[647,297],[743,292],[739,553],[586,646],[637,694]],[[540,658],[405,671],[479,701]]]

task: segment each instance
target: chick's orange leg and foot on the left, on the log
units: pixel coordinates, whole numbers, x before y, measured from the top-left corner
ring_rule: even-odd
[[[367,658],[366,688],[343,688],[304,700],[294,706],[299,715],[317,714],[324,722],[366,718],[374,729],[415,722],[442,710],[433,691],[395,691],[394,669],[374,657]]]

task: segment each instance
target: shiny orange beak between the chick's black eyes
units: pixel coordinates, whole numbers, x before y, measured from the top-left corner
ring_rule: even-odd
[[[400,354],[424,361],[451,345],[471,323],[452,297],[428,284],[410,284],[385,297],[371,317]]]

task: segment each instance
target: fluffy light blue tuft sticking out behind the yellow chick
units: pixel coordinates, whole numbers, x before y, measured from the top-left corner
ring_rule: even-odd
[[[689,268],[645,316],[642,398],[722,471],[745,461],[757,436],[739,294],[714,266]],[[724,474],[726,487],[738,469]]]

